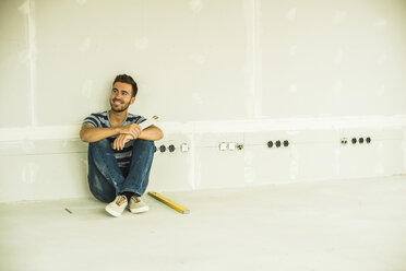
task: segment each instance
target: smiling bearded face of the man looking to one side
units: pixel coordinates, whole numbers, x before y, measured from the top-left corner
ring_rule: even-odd
[[[135,102],[135,97],[131,97],[131,84],[116,82],[110,94],[111,110],[117,113],[127,110]]]

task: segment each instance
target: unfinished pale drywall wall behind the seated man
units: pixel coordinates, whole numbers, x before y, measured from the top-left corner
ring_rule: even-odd
[[[130,111],[160,116],[168,140],[196,148],[179,160],[188,169],[179,176],[174,170],[178,181],[156,181],[162,188],[334,178],[337,168],[346,173],[342,178],[371,168],[377,175],[405,172],[402,137],[381,139],[389,140],[382,146],[387,153],[351,150],[357,161],[377,155],[360,167],[337,155],[322,158],[336,150],[337,129],[369,129],[371,137],[405,129],[405,15],[403,0],[0,1],[0,201],[52,198],[47,181],[56,175],[49,170],[59,167],[69,174],[60,176],[64,192],[58,197],[87,193],[85,144],[77,142],[72,154],[65,142],[77,140],[84,117],[108,108],[119,73],[133,75],[140,86]],[[318,129],[334,137],[322,138]],[[255,148],[239,157],[216,153],[215,142],[228,139],[222,132],[247,140],[247,132],[265,138],[273,130],[309,130],[320,140],[275,156],[285,161],[278,170],[288,172],[268,181],[255,161],[275,154]],[[314,149],[319,156],[298,156]],[[323,169],[315,172],[309,160],[323,162]],[[213,179],[210,163],[222,161],[238,170],[223,168]],[[155,176],[162,178],[172,162],[163,155],[157,163]]]

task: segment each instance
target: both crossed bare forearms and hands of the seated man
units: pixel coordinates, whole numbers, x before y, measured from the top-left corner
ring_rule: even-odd
[[[112,149],[122,150],[130,140],[144,139],[156,141],[164,137],[163,131],[156,126],[150,126],[142,130],[141,126],[131,123],[122,127],[95,128],[91,125],[82,126],[80,136],[84,142],[97,142],[109,137],[117,136]]]

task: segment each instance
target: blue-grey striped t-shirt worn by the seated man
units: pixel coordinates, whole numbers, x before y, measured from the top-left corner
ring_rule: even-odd
[[[131,123],[136,123],[140,125],[141,122],[145,121],[146,118],[142,116],[136,116],[131,113],[127,114],[127,118],[120,126],[128,126]],[[91,125],[95,128],[108,128],[111,127],[110,119],[108,117],[108,111],[101,111],[101,113],[96,113],[92,114],[87,118],[84,119],[83,125]],[[131,154],[132,154],[132,145],[134,143],[133,140],[129,141],[126,143],[124,148],[119,151],[119,150],[114,150],[112,149],[112,143],[115,142],[116,138],[118,136],[114,136],[110,138],[107,138],[108,141],[110,142],[111,150],[115,154],[115,157],[117,160],[118,166],[120,167],[121,170],[126,170],[131,163]]]

